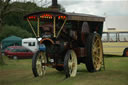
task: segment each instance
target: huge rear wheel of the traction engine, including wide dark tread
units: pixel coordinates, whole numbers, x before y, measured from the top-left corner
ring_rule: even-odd
[[[89,72],[101,69],[103,63],[103,47],[101,37],[97,33],[90,34],[87,41],[86,67]]]

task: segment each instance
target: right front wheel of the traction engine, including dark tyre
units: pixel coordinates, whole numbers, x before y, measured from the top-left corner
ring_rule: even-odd
[[[77,56],[73,50],[67,51],[64,59],[64,71],[66,78],[75,77],[77,73]]]

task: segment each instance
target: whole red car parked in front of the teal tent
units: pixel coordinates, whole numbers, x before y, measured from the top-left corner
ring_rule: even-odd
[[[5,55],[13,59],[32,58],[33,52],[23,46],[10,46],[5,49]]]

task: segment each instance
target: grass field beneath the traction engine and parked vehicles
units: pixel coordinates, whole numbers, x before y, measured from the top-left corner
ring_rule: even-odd
[[[0,66],[0,85],[128,85],[128,57],[105,57],[106,70],[89,73],[78,66],[77,76],[65,79],[64,72],[48,68],[44,77],[34,78],[31,60],[8,60]]]

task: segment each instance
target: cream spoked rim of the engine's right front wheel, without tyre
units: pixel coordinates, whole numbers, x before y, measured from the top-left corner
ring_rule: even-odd
[[[74,51],[71,51],[68,60],[68,68],[70,77],[75,77],[77,72],[77,56]]]

